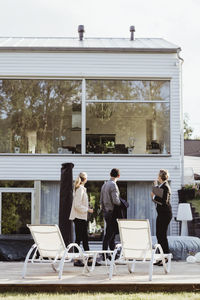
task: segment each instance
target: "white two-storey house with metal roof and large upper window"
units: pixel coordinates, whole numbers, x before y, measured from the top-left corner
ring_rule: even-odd
[[[1,233],[57,223],[61,164],[99,192],[113,167],[129,218],[149,218],[159,169],[170,173],[173,214],[183,180],[180,48],[161,38],[0,38]],[[94,224],[93,224],[94,225]],[[92,225],[91,225],[92,227]],[[90,228],[91,229],[91,228]],[[91,229],[92,232],[93,229]],[[178,225],[171,222],[169,234]]]

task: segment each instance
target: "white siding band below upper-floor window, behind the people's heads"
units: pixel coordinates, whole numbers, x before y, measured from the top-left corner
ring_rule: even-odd
[[[172,157],[81,157],[81,156],[0,156],[0,180],[59,180],[62,163],[72,162],[74,177],[85,171],[90,180],[105,180],[111,168],[121,170],[121,180],[153,180],[160,168],[179,180],[180,160]]]

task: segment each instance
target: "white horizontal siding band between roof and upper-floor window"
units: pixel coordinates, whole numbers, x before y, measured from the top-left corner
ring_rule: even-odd
[[[1,76],[174,77],[175,54],[0,53]]]

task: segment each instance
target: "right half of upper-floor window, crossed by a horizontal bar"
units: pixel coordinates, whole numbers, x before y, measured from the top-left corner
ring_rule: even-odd
[[[169,154],[169,81],[88,80],[86,153]]]

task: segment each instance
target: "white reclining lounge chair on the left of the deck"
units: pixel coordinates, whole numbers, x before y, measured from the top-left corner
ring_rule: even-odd
[[[80,259],[85,265],[85,272],[87,269],[87,260],[89,255],[83,253],[78,244],[71,243],[66,247],[60,229],[57,225],[27,226],[30,229],[35,244],[30,248],[26,255],[22,278],[25,278],[26,276],[28,262],[49,263],[53,270],[59,273],[58,277],[61,279],[64,263],[71,262],[73,259]],[[78,252],[69,252],[72,247],[76,247]],[[30,258],[31,254],[33,254],[32,258]]]

